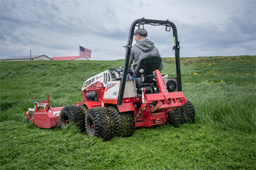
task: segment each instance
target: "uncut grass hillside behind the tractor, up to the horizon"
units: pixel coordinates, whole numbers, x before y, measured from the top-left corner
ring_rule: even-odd
[[[1,62],[1,122],[26,120],[21,113],[47,94],[53,107],[82,101],[87,78],[123,62]],[[182,58],[181,64],[184,94],[195,104],[200,120],[256,131],[255,56]],[[175,76],[174,59],[164,59],[162,72]]]

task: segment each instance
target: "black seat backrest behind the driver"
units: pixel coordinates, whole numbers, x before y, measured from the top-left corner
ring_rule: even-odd
[[[147,76],[153,74],[156,69],[161,69],[162,58],[158,55],[143,57],[135,68],[134,76]]]

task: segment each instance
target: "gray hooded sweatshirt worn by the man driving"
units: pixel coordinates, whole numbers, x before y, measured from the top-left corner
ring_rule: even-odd
[[[159,57],[161,57],[158,49],[156,48],[156,46],[154,45],[154,43],[152,41],[150,41],[149,39],[140,39],[137,43],[134,44],[134,46],[132,46],[131,48],[131,55],[130,55],[130,59],[129,59],[129,64],[128,64],[128,73],[131,73],[131,66],[132,66],[132,62],[134,60],[134,64],[132,67],[136,67],[137,64],[139,63],[139,60],[143,57],[147,57],[148,55],[158,55]],[[162,66],[161,66],[161,70],[163,69],[164,64],[162,61]]]

